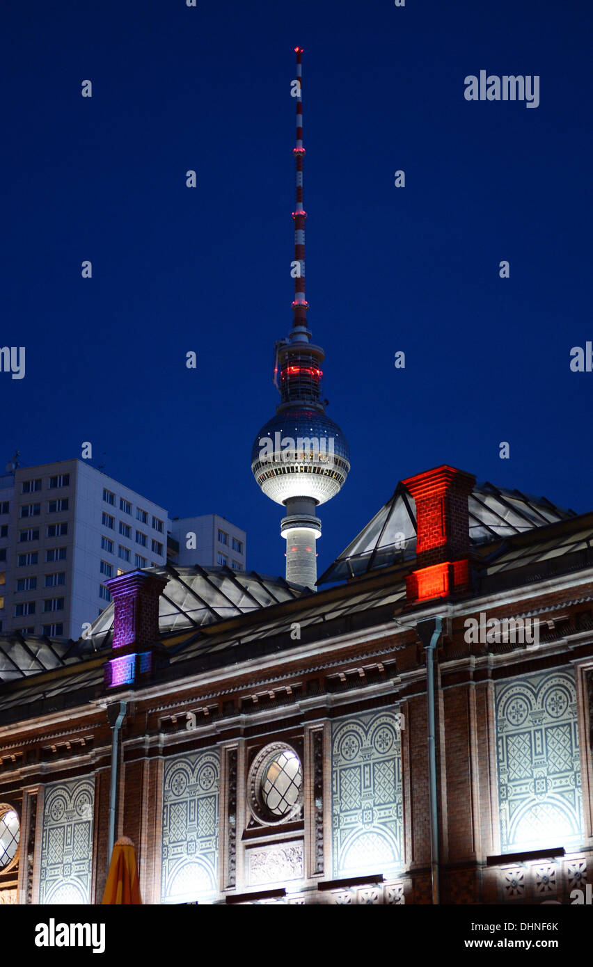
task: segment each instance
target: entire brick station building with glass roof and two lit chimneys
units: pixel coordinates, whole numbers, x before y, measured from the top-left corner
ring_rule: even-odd
[[[441,466],[316,593],[165,564],[106,580],[87,638],[3,635],[0,903],[100,902],[110,835],[148,904],[570,903],[592,537]]]

